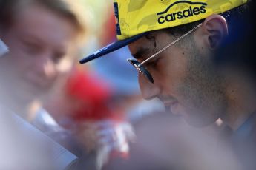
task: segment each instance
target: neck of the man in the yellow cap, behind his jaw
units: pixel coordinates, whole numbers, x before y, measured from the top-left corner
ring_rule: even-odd
[[[249,75],[229,70],[226,96],[228,108],[221,118],[233,131],[236,131],[256,112],[256,88]]]

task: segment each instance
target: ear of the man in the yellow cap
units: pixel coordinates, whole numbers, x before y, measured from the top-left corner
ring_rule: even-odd
[[[228,25],[223,16],[213,14],[206,18],[202,25],[204,42],[211,50],[219,47],[223,38],[228,35]]]

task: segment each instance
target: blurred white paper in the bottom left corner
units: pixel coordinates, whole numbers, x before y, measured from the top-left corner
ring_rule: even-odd
[[[4,118],[4,113],[0,114],[0,169],[16,169],[18,166],[20,169],[54,167],[51,169],[65,170],[77,161],[76,155],[18,115]]]

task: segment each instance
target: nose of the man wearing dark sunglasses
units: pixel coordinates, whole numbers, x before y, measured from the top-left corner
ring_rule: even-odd
[[[151,100],[153,98],[156,98],[157,95],[160,95],[160,86],[149,82],[144,75],[139,74],[139,84],[140,91],[142,92],[142,97],[146,100]]]

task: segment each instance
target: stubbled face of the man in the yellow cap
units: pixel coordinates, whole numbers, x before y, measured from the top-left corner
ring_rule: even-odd
[[[212,24],[209,29],[216,29]],[[139,74],[143,98],[160,98],[168,112],[183,116],[193,126],[214,123],[226,109],[223,82],[211,61],[211,34],[205,27],[145,64],[154,84]],[[179,36],[155,32],[130,44],[129,49],[142,62]]]

